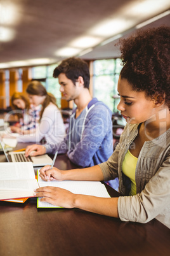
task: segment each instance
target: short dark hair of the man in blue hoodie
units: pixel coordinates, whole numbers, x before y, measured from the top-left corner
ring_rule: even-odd
[[[74,85],[79,76],[82,76],[84,88],[89,89],[89,67],[84,60],[74,57],[63,60],[53,71],[53,77],[57,78],[61,73],[72,80]]]

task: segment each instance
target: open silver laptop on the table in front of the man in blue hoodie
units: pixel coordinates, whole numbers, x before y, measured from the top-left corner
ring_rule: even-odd
[[[8,162],[32,162],[33,167],[51,165],[53,160],[47,154],[37,155],[36,157],[25,157],[25,151],[22,152],[9,152],[4,150],[3,143],[0,139],[0,145]]]

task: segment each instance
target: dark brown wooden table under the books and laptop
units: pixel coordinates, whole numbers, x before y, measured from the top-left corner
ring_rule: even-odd
[[[76,167],[66,155],[58,155],[55,166]],[[119,195],[107,189],[110,196]],[[170,252],[170,229],[155,219],[138,224],[78,209],[37,209],[36,198],[24,204],[1,201],[0,227],[1,256],[167,256]]]

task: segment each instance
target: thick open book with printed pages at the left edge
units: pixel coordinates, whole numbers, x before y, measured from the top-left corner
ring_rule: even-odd
[[[38,187],[32,162],[0,163],[0,200],[23,203]]]

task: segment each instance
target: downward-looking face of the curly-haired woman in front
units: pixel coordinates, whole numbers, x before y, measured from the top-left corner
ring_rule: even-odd
[[[117,109],[129,124],[140,124],[154,117],[154,100],[146,97],[145,92],[136,92],[128,80],[119,77],[117,90],[121,100]]]

